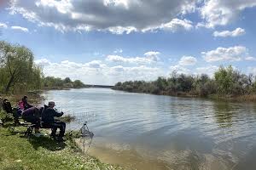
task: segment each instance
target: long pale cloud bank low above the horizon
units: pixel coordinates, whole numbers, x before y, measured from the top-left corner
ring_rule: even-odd
[[[101,60],[93,60],[88,63],[76,63],[68,60],[60,63],[50,62],[48,59],[38,59],[36,64],[44,65],[45,76],[70,77],[73,80],[79,79],[89,84],[113,85],[116,82],[128,80],[154,80],[163,76],[165,71],[157,67],[146,65],[125,67],[123,65],[108,66]]]

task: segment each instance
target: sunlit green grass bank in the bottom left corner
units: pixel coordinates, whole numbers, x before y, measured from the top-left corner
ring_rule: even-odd
[[[49,136],[27,139],[23,132],[26,128],[15,127],[9,132],[0,127],[0,169],[121,169],[84,155],[73,139],[65,143],[56,143]]]

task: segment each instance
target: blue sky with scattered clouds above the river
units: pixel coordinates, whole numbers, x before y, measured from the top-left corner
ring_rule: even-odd
[[[0,39],[45,76],[152,81],[220,65],[256,75],[256,0],[0,0]]]

